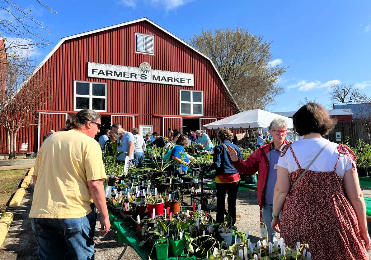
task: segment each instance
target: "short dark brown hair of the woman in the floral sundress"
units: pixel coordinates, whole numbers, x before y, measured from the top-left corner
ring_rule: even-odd
[[[336,119],[331,118],[328,111],[316,103],[308,103],[299,108],[292,117],[294,130],[299,135],[319,133],[327,135],[336,125]]]

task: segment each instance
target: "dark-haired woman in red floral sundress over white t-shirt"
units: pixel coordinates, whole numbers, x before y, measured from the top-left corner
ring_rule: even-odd
[[[356,158],[347,146],[322,138],[336,121],[321,105],[308,103],[295,113],[293,124],[303,139],[286,145],[279,158],[272,228],[290,247],[308,244],[313,260],[368,260],[370,236]]]

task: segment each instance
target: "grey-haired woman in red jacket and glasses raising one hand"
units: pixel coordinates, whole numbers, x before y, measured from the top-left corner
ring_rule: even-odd
[[[262,145],[255,152],[250,154],[246,161],[237,157],[236,151],[229,147],[227,149],[234,168],[245,175],[252,175],[259,171],[257,180],[257,199],[260,206],[261,234],[267,237],[270,242],[276,240],[276,232],[272,229],[272,206],[273,192],[277,180],[277,162],[282,148],[287,143],[287,122],[283,118],[276,118],[269,125],[269,133],[273,142]],[[266,232],[267,231],[267,232]]]

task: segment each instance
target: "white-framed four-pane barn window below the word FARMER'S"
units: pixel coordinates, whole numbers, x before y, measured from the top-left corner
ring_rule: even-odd
[[[107,84],[99,82],[74,82],[74,110],[88,108],[97,112],[107,112]]]

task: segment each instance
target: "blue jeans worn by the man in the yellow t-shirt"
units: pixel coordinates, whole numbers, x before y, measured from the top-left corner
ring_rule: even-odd
[[[96,212],[76,219],[31,218],[40,260],[94,260]]]

